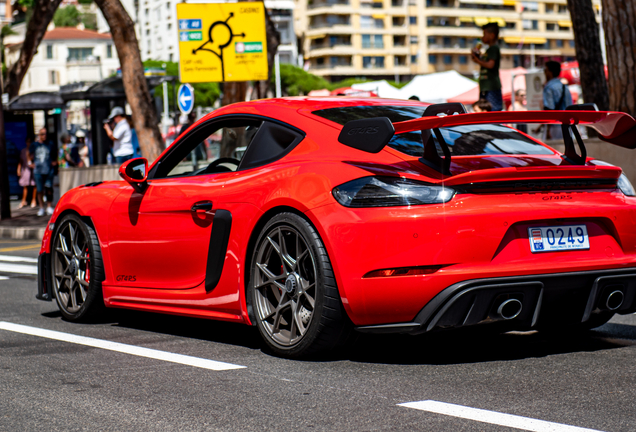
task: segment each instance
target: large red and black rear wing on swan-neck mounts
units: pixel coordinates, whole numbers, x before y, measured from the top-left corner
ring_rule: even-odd
[[[583,109],[581,111],[577,109]],[[370,153],[378,153],[395,134],[422,131],[424,154],[420,159],[445,175],[450,174],[451,154],[439,128],[506,123],[560,124],[565,142],[565,158],[574,165],[585,165],[587,151],[576,125],[596,130],[599,137],[620,147],[636,148],[636,120],[629,114],[612,111],[584,111],[588,105],[571,106],[565,111],[498,111],[467,114],[462,104],[437,104],[429,106],[419,119],[391,123],[386,117],[375,117],[347,122],[338,141],[347,146]],[[445,114],[444,116],[439,116]],[[431,132],[432,131],[432,132]],[[571,133],[570,133],[571,132]],[[444,157],[439,156],[432,139],[435,134]],[[576,139],[579,152],[576,151]]]

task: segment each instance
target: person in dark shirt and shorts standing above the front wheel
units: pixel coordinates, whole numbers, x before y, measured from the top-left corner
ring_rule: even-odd
[[[31,145],[30,154],[33,160],[33,177],[37,191],[38,216],[44,216],[44,196],[46,194],[46,214],[53,214],[53,178],[57,158],[55,146],[47,139],[46,129],[40,129],[38,139]]]

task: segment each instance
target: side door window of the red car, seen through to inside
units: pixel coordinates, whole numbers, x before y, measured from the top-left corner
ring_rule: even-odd
[[[157,165],[152,178],[187,177],[236,171],[259,120],[230,120],[204,125],[185,137]]]

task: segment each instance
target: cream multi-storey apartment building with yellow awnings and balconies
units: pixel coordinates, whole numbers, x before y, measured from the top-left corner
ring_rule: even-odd
[[[600,0],[593,4],[600,22]],[[575,57],[567,0],[300,0],[296,12],[306,68],[332,80],[471,75],[470,49],[492,21],[502,68]]]

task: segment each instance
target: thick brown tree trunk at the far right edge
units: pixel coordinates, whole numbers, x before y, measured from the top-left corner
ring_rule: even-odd
[[[603,0],[609,108],[636,115],[636,2]]]

